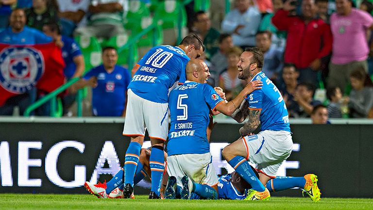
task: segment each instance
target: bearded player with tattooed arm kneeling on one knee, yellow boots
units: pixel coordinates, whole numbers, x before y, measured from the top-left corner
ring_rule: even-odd
[[[246,103],[233,113],[232,117],[237,122],[243,122],[246,117],[248,120],[239,129],[242,137],[222,151],[225,160],[252,186],[247,197],[250,200],[270,198],[270,192],[264,185],[275,178],[282,162],[290,156],[293,144],[288,110],[277,87],[261,71],[263,60],[259,48],[246,48],[240,56],[238,78],[247,82],[263,81],[263,88],[247,95]],[[259,125],[261,131],[252,134]],[[254,176],[247,161],[256,163],[259,179]],[[317,177],[312,174],[305,178],[311,183],[312,200],[320,200]]]

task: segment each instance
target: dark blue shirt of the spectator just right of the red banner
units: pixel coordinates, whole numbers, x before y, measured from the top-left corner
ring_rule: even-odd
[[[62,57],[65,61],[64,74],[67,79],[71,79],[76,70],[76,65],[73,61],[74,57],[82,55],[82,51],[75,43],[75,41],[67,36],[62,35],[62,42],[64,46],[62,47]]]

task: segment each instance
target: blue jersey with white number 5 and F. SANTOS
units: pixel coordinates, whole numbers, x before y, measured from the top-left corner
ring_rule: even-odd
[[[210,152],[206,129],[210,109],[223,99],[207,83],[186,81],[170,92],[171,127],[167,153],[204,154]]]

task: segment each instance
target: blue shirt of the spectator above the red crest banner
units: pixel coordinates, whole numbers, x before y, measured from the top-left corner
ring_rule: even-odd
[[[12,32],[10,27],[0,32],[0,43],[10,45],[34,45],[52,42],[52,38],[36,29],[25,26],[19,33]]]

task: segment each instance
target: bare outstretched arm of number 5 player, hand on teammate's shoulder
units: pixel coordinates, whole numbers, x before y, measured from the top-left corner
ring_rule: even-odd
[[[261,89],[262,85],[263,82],[259,80],[250,82],[233,100],[228,103],[219,103],[216,106],[216,110],[227,116],[231,116],[239,108],[238,104],[241,104],[246,96],[251,94],[254,90]]]

